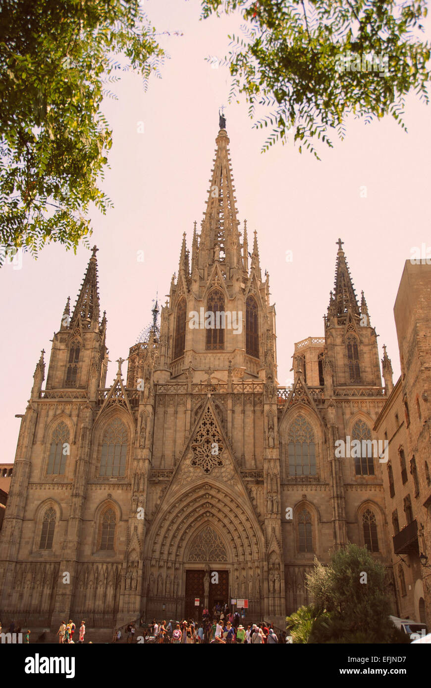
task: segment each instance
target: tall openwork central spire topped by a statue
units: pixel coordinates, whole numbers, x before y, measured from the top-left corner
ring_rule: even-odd
[[[223,115],[220,115],[220,127],[226,125]],[[227,131],[221,128],[215,139],[217,148],[211,170],[210,188],[208,190],[207,209],[204,212],[200,233],[198,266],[205,268],[218,260],[221,266],[240,268],[242,270],[242,255],[239,220],[234,195],[231,159],[229,158],[229,137]]]

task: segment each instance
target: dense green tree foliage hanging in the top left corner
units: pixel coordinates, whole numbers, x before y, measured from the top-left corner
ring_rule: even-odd
[[[136,69],[146,85],[163,57],[138,0],[3,0],[3,246],[76,250],[90,235],[90,202],[103,213],[110,204],[98,188],[112,145],[101,100],[118,72]]]

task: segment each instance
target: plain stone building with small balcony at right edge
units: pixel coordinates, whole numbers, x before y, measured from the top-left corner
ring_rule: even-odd
[[[401,377],[375,424],[383,469],[398,615],[431,620],[431,266],[406,261],[395,301]],[[386,354],[385,370],[392,374]]]

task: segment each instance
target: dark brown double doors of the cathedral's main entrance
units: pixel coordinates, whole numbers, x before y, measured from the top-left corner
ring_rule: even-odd
[[[213,574],[217,574],[214,576]],[[204,570],[187,570],[186,571],[186,590],[185,590],[185,618],[194,619],[195,621],[202,621],[202,612],[204,609]],[[229,571],[220,571],[210,569],[210,584],[209,584],[209,599],[208,608],[209,613],[216,604],[228,603],[229,599]],[[214,583],[211,581],[214,580]],[[195,605],[195,599],[199,599],[199,605]],[[212,621],[212,619],[211,619]]]

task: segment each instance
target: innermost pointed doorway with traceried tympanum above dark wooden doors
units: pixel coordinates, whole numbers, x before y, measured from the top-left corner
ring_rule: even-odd
[[[186,561],[185,617],[201,621],[204,605],[211,614],[214,605],[230,603],[227,549],[210,525],[194,537]]]

